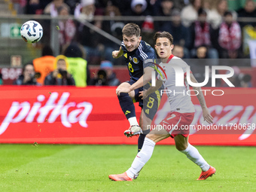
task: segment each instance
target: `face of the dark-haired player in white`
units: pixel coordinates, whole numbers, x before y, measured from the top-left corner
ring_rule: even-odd
[[[154,48],[157,50],[160,59],[168,59],[172,54],[173,44],[168,38],[157,38]]]

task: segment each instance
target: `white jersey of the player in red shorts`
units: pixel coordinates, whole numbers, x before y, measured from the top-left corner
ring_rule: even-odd
[[[190,94],[192,95],[193,93],[190,93],[189,84],[185,80],[187,68],[189,67],[187,63],[181,58],[172,55],[169,57],[168,63],[161,62],[160,66],[166,72],[166,75],[162,70],[159,70],[161,74],[157,75],[157,79],[163,81],[165,90],[162,90],[162,94],[166,93],[168,96],[171,111],[177,111],[179,113],[195,112],[194,104],[192,103],[190,96]],[[175,66],[178,66],[178,69],[183,73],[183,86],[175,86],[175,69],[177,69]]]

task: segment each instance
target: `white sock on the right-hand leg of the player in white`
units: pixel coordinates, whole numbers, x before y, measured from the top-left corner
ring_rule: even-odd
[[[204,160],[200,153],[197,151],[197,148],[190,145],[190,143],[188,143],[187,148],[181,151],[181,153],[186,154],[188,159],[192,160],[194,163],[200,166],[203,172],[208,171],[210,168],[206,160]]]

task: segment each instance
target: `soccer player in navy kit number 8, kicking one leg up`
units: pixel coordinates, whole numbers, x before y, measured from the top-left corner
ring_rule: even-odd
[[[154,71],[148,64],[148,67],[143,66],[145,60],[154,62],[157,58],[154,49],[145,41],[142,41],[140,36],[141,30],[135,23],[128,23],[123,27],[123,42],[119,50],[114,50],[112,56],[116,59],[124,56],[126,66],[130,72],[130,81],[123,82],[117,87],[116,93],[119,99],[120,107],[123,114],[126,115],[127,120],[130,122],[130,128],[124,132],[127,137],[139,135],[138,151],[142,148],[145,136],[150,132],[147,125],[151,125],[151,120],[157,112],[160,103],[160,93],[157,90],[152,93],[146,104],[143,106],[141,93],[143,91],[143,82],[151,80],[151,72]],[[148,62],[150,63],[150,62]],[[148,85],[149,86],[149,85]],[[136,111],[133,102],[139,102],[142,107],[142,113],[139,123],[136,119]],[[142,123],[143,117],[143,123]],[[144,125],[143,125],[144,124]]]

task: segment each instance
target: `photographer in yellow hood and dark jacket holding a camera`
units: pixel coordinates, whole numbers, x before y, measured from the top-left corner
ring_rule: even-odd
[[[75,85],[72,75],[67,72],[69,62],[66,56],[59,55],[56,57],[53,72],[44,79],[44,85]]]

